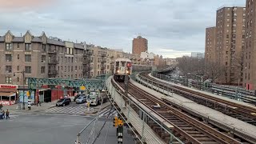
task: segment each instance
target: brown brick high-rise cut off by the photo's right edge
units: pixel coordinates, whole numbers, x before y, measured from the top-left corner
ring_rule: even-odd
[[[256,90],[256,4],[246,0],[246,34],[243,63],[243,86]]]

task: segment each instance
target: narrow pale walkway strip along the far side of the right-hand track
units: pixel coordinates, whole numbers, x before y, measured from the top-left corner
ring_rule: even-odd
[[[214,98],[219,98],[219,99],[223,99],[225,101],[229,101],[229,102],[234,102],[234,103],[238,103],[242,106],[248,106],[250,108],[253,108],[255,110],[255,113],[256,113],[256,106],[250,104],[250,103],[247,103],[247,102],[241,102],[241,101],[237,101],[235,99],[231,99],[231,98],[226,98],[226,97],[223,97],[223,96],[220,96],[220,95],[217,95],[217,94],[212,94],[212,93],[209,93],[209,92],[206,92],[206,91],[202,91],[202,90],[197,90],[197,89],[193,89],[193,88],[190,88],[190,87],[187,87],[187,86],[182,86],[182,85],[178,85],[174,82],[167,82],[165,80],[162,80],[162,79],[159,79],[159,78],[155,78],[154,76],[152,76],[151,74],[149,74],[150,78],[154,78],[158,81],[161,81],[161,82],[166,82],[166,83],[169,83],[170,85],[174,85],[174,86],[179,86],[179,87],[182,87],[182,88],[185,88],[185,89],[188,89],[188,90],[193,90],[193,91],[196,91],[198,93],[201,93],[201,94],[207,94],[211,97],[214,97]]]

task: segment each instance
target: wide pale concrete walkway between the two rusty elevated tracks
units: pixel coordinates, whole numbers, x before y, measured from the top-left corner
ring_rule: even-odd
[[[138,77],[136,77],[136,78],[138,78]],[[238,133],[246,134],[246,135],[250,136],[251,138],[256,138],[256,126],[250,125],[249,123],[246,123],[246,122],[242,122],[241,120],[232,118],[226,114],[222,114],[221,112],[219,112],[217,110],[210,109],[209,107],[199,105],[198,103],[193,102],[190,99],[183,98],[182,96],[180,96],[178,94],[170,93],[170,92],[167,92],[167,91],[161,90],[161,89],[160,89],[160,91],[164,92],[164,94],[159,93],[158,91],[156,91],[158,89],[157,86],[152,86],[151,84],[149,84],[149,86],[146,87],[146,86],[143,86],[142,84],[135,82],[134,80],[131,80],[131,79],[130,79],[130,82],[132,82],[134,84],[134,86],[138,86],[142,90],[146,90],[149,94],[153,94],[157,98],[165,98],[166,100],[169,100],[170,102],[174,102],[178,106],[182,106],[182,107],[186,108],[187,110],[194,111],[194,113],[200,114],[203,117],[206,117],[206,118],[208,117],[210,119],[210,121],[218,122],[218,123],[222,124],[223,126],[230,128],[230,130],[235,130]],[[145,81],[141,80],[141,82],[146,84]],[[163,82],[165,82],[165,81],[163,81]],[[173,83],[170,83],[170,84],[173,84]],[[152,90],[149,87],[150,88],[153,87],[156,90]],[[167,94],[168,96],[166,96],[165,94]],[[241,102],[241,103],[245,103],[245,102]],[[245,105],[246,105],[246,103],[245,103]]]

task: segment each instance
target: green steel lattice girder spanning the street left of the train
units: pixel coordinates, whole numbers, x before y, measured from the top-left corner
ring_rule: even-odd
[[[86,90],[105,89],[105,79],[62,79],[62,78],[28,78],[29,90],[41,89],[43,85],[80,87],[86,86]]]

